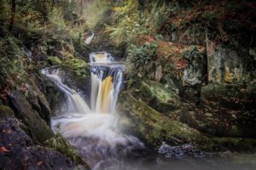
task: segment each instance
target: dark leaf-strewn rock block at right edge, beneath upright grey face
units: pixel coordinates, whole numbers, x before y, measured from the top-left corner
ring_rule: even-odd
[[[220,137],[255,138],[256,95],[249,87],[209,84],[201,88],[201,114],[197,120],[202,129]],[[212,119],[206,118],[206,113]]]

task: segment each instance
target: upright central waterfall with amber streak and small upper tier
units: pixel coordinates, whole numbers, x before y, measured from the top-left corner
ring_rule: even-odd
[[[115,64],[115,65],[113,65]],[[113,113],[123,82],[124,66],[108,53],[90,54],[90,107],[96,113]]]

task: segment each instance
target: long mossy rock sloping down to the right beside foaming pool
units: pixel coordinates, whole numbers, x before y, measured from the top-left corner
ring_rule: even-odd
[[[132,96],[130,91],[120,94],[118,111],[123,130],[135,134],[154,148],[163,141],[168,144],[207,142],[207,138],[197,130],[160,114]]]

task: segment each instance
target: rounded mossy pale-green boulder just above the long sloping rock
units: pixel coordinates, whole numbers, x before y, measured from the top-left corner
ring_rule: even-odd
[[[138,99],[154,108],[156,111],[167,112],[181,107],[178,95],[172,90],[165,88],[160,82],[143,81],[133,90]]]

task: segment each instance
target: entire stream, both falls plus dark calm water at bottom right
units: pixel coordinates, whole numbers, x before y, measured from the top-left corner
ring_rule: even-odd
[[[249,161],[237,163],[236,156],[225,156],[229,153],[223,156],[205,153],[190,144],[164,143],[159,150],[150,150],[136,137],[120,132],[115,107],[124,82],[125,65],[115,62],[108,53],[90,54],[90,103],[63,83],[59,71],[58,68],[42,71],[67,99],[67,111],[52,117],[51,127],[78,150],[93,170],[249,170],[256,165],[252,157],[243,156]]]

